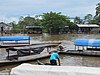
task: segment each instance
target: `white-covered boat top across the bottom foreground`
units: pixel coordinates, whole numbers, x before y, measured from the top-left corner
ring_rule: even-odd
[[[49,66],[20,64],[11,69],[10,75],[100,75],[100,68],[86,66]]]

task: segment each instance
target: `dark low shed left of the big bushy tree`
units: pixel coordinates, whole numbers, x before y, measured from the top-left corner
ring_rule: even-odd
[[[40,26],[26,26],[25,30],[28,34],[42,34],[42,27]]]

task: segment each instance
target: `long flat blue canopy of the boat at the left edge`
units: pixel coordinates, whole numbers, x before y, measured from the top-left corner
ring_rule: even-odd
[[[0,41],[21,41],[21,40],[30,40],[29,36],[2,36]]]

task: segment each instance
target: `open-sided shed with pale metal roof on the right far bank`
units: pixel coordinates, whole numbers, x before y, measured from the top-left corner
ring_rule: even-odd
[[[93,28],[99,28],[97,24],[77,24],[79,32],[90,33]]]

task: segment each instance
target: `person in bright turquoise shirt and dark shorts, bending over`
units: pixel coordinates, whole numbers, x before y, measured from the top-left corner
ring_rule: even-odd
[[[58,60],[58,64],[60,66],[61,65],[60,64],[60,58],[59,58],[59,54],[57,53],[57,50],[53,50],[50,54],[51,54],[50,64],[51,65],[57,65],[57,60]]]

